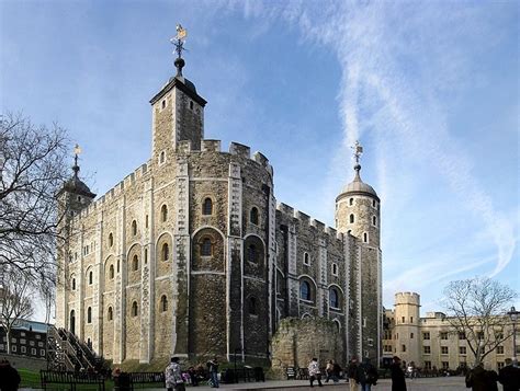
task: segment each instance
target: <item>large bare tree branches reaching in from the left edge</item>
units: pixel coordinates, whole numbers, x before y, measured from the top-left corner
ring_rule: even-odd
[[[66,147],[57,125],[0,117],[0,267],[52,278],[64,217],[56,194],[68,175]]]

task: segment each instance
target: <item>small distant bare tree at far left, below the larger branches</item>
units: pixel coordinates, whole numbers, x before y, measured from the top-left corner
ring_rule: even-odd
[[[2,271],[0,280],[0,326],[5,330],[7,352],[11,352],[11,330],[22,319],[33,315],[32,281],[27,275],[11,267]]]

